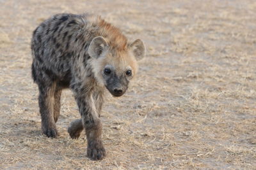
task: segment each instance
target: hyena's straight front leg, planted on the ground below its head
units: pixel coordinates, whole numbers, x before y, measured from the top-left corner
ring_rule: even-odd
[[[86,131],[87,155],[90,159],[101,160],[106,156],[106,151],[101,139],[102,124],[92,92],[76,92],[75,96],[82,116],[83,127]]]

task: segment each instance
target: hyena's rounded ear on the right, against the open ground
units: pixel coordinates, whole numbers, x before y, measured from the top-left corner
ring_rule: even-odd
[[[130,48],[136,60],[141,60],[145,57],[146,48],[141,39],[136,39],[133,43],[131,43]]]

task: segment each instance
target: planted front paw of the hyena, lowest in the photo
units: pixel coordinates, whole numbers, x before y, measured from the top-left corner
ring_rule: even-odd
[[[106,157],[106,150],[102,141],[90,141],[87,146],[87,156],[92,160],[102,160]]]

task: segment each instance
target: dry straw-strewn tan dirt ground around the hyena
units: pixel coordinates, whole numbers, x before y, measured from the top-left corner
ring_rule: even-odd
[[[72,140],[70,90],[60,136],[40,132],[30,39],[56,13],[97,13],[147,59],[102,111],[106,159]],[[0,0],[0,169],[256,169],[256,2]]]

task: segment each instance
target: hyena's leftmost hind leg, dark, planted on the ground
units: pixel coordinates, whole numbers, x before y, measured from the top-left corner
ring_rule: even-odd
[[[42,132],[47,137],[56,138],[58,135],[54,122],[54,90],[55,85],[39,85],[39,108],[42,118]]]

